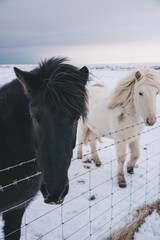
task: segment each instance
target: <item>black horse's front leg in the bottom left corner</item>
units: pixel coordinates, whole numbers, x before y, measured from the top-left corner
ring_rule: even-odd
[[[21,222],[25,208],[15,209],[3,213],[5,240],[19,240],[21,235]]]

